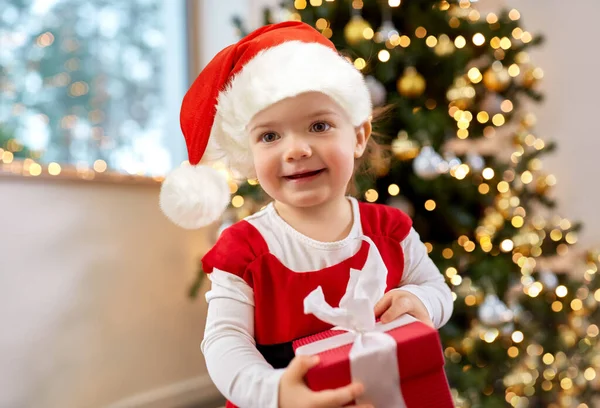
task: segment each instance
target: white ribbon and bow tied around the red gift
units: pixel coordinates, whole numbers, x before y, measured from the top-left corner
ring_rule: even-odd
[[[375,243],[364,235],[361,239],[369,243],[367,261],[362,270],[350,269],[346,293],[339,307],[327,303],[320,286],[304,299],[305,314],[312,313],[336,326],[333,330],[346,333],[298,347],[296,355],[315,355],[352,343],[351,377],[365,387],[356,402],[370,403],[377,408],[406,408],[400,388],[396,341],[385,332],[416,319],[405,315],[387,324],[375,323],[375,304],[385,293],[388,271]]]

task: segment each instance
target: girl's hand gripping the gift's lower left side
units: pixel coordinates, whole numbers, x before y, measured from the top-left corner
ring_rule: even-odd
[[[364,392],[361,384],[353,383],[335,390],[314,392],[304,383],[308,370],[319,362],[316,356],[297,356],[281,376],[279,408],[340,408]],[[368,404],[351,408],[373,408]]]

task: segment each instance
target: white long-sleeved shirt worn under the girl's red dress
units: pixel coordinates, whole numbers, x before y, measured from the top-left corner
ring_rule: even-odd
[[[340,263],[360,248],[358,202],[349,199],[354,221],[350,233],[341,241],[320,242],[299,233],[277,214],[272,204],[246,221],[260,232],[269,251],[289,269],[297,273],[315,271]],[[443,326],[453,310],[443,275],[414,229],[399,246],[405,262],[402,280],[395,290],[416,295],[435,327]],[[209,277],[212,287],[206,293],[208,316],[201,347],[211,379],[229,401],[242,408],[277,408],[283,369],[274,369],[256,349],[252,288],[227,271],[213,269]]]

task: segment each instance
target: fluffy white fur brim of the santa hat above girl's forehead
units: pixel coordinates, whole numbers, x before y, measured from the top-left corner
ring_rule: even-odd
[[[284,42],[259,52],[219,94],[203,161],[220,160],[243,177],[253,178],[248,123],[268,106],[311,91],[336,101],[354,126],[372,113],[369,90],[352,63],[322,44]]]

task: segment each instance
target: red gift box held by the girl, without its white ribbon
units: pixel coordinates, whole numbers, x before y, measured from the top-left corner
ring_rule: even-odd
[[[301,347],[347,333],[329,330],[293,342],[294,352]],[[444,372],[444,355],[438,332],[419,321],[386,330],[396,342],[400,390],[407,408],[454,407]],[[319,363],[306,377],[313,391],[334,389],[351,383],[350,350],[353,342],[319,352]],[[377,407],[379,408],[379,407]]]

